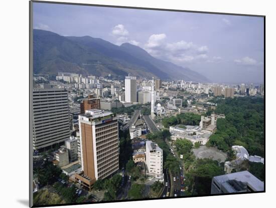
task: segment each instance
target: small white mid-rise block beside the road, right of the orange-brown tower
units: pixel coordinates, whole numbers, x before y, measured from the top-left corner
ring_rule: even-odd
[[[146,141],[146,164],[150,176],[163,177],[163,150],[152,141]]]

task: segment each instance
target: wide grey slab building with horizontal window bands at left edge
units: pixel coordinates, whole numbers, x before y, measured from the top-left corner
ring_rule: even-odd
[[[33,147],[47,150],[64,144],[71,135],[68,92],[63,88],[33,90]]]

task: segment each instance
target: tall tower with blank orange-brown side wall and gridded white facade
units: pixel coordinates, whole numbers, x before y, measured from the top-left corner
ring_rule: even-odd
[[[82,172],[76,180],[91,190],[97,179],[119,169],[118,120],[103,110],[87,110],[79,115]]]

